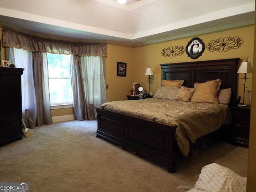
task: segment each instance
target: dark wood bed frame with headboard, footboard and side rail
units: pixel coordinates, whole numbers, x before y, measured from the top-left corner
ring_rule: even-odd
[[[232,88],[232,100],[236,98],[237,65],[239,58],[160,64],[162,80],[182,79],[183,85],[192,88],[195,82],[221,79],[220,89]],[[98,129],[97,137],[103,137],[128,150],[142,154],[167,166],[168,172],[176,171],[176,157],[179,152],[174,139],[177,127],[158,124],[132,116],[118,114],[102,108],[96,108]],[[208,143],[218,131],[190,144],[190,150]]]

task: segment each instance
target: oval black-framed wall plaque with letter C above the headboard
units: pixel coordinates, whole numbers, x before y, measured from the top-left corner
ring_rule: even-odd
[[[192,59],[197,59],[204,52],[205,45],[203,40],[198,37],[192,38],[186,46],[186,53]]]

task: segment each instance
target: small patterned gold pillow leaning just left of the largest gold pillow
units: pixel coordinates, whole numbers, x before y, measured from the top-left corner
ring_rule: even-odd
[[[180,89],[177,87],[162,86],[156,90],[156,93],[153,97],[174,100],[174,97],[177,95],[179,90]]]

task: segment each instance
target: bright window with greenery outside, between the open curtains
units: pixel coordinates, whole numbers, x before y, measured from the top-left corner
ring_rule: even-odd
[[[47,53],[51,106],[73,104],[70,55]]]

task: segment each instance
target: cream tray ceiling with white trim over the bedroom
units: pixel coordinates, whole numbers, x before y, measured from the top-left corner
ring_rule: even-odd
[[[135,47],[252,25],[254,12],[255,0],[1,0],[0,26]]]

